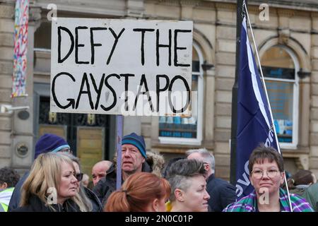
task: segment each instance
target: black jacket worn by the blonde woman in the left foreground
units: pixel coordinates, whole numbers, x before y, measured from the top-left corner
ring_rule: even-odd
[[[56,210],[55,212],[81,212],[76,203],[71,200],[65,201],[63,205],[53,204],[51,206]],[[37,196],[31,196],[28,206],[18,207],[11,212],[54,212],[54,210],[45,206],[45,203]]]

